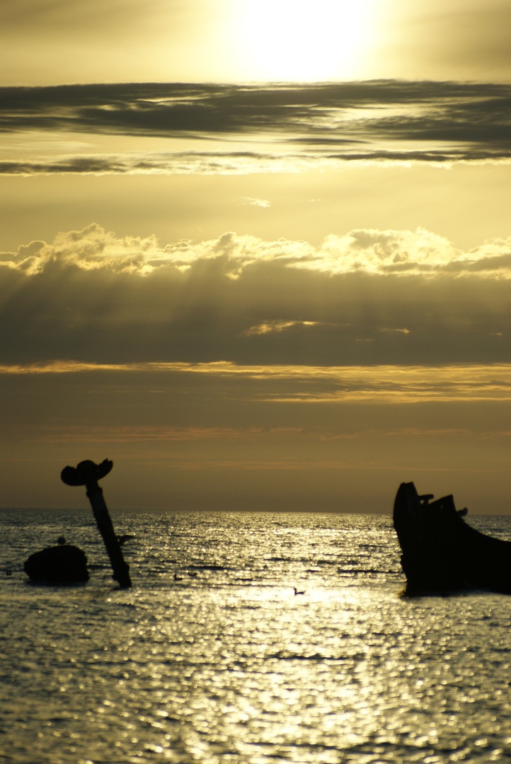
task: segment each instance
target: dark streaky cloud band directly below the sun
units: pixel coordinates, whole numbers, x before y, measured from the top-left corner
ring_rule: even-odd
[[[11,87],[0,89],[0,103],[3,132],[186,138],[205,146],[11,157],[0,164],[6,174],[289,172],[343,162],[511,160],[506,83]]]

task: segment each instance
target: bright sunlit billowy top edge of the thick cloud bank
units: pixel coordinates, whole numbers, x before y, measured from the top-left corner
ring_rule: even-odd
[[[172,274],[178,278],[206,268],[210,275],[235,280],[246,270],[266,265],[289,269],[289,277],[301,278],[301,270],[334,275],[380,276],[480,274],[511,278],[511,238],[494,239],[469,252],[458,250],[448,239],[417,228],[416,231],[354,229],[348,234],[328,235],[319,247],[306,241],[264,241],[251,235],[225,233],[210,241],[178,241],[160,246],[157,238],[118,238],[92,223],[82,231],[60,233],[50,244],[31,241],[16,253],[0,253],[0,267],[25,275],[41,274],[58,267],[105,274]],[[191,273],[189,274],[191,275]]]

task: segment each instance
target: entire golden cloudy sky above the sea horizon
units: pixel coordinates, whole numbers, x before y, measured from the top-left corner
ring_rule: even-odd
[[[511,511],[511,0],[0,0],[0,506]]]

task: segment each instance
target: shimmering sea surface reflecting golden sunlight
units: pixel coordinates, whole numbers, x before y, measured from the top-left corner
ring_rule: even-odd
[[[511,761],[511,597],[399,597],[390,516],[112,519],[128,591],[92,513],[0,511],[0,761]],[[61,534],[89,583],[27,584]]]

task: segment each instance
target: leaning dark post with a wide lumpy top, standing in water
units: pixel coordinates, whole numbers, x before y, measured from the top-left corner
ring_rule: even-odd
[[[105,459],[100,465],[96,465],[94,461],[80,461],[76,467],[64,467],[60,478],[66,485],[84,485],[86,487],[92,513],[112,563],[115,581],[118,581],[121,589],[127,589],[131,587],[130,568],[122,556],[121,545],[115,536],[103,491],[98,484],[98,481],[104,478],[113,466],[114,463],[110,459]]]

